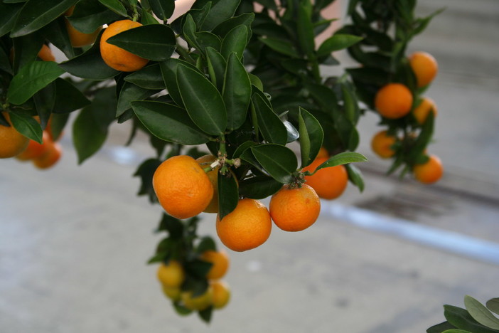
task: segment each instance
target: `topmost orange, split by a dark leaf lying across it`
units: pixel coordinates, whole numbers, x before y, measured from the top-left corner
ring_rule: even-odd
[[[122,20],[111,23],[104,30],[100,38],[100,55],[109,67],[123,72],[133,72],[143,68],[149,62],[149,60],[125,51],[123,48],[107,43],[108,38],[138,26],[142,26],[142,24],[131,20]]]

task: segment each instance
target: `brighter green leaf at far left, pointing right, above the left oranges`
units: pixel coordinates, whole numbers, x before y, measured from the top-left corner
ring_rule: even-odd
[[[7,92],[7,100],[11,104],[20,105],[26,102],[38,90],[53,82],[64,70],[53,61],[33,61],[21,68],[12,78]]]

